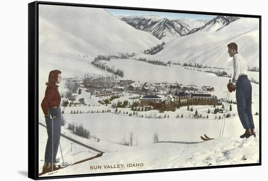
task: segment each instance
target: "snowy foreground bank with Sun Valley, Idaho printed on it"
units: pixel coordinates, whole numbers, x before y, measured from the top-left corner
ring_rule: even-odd
[[[223,138],[200,143],[159,142],[134,147],[129,151],[104,153],[100,158],[67,167],[54,175],[258,163],[258,147],[258,139],[255,138],[247,140]],[[115,167],[118,164],[123,165],[122,168],[104,167],[106,165]],[[128,164],[135,164],[135,167],[127,167]],[[96,166],[101,168],[91,169]]]

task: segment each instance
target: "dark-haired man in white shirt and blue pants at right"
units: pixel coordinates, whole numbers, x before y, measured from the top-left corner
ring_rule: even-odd
[[[252,135],[255,137],[255,126],[251,112],[252,87],[247,76],[247,64],[237,52],[236,43],[231,42],[227,47],[230,57],[233,58],[233,77],[227,87],[230,92],[236,90],[238,116],[244,129],[246,129],[246,132],[240,138],[249,138]]]

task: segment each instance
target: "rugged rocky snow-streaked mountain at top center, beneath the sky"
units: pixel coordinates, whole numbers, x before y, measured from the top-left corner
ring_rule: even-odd
[[[117,18],[138,30],[151,33],[164,42],[184,36],[192,29],[188,24],[179,20],[169,20],[158,16],[119,16]]]

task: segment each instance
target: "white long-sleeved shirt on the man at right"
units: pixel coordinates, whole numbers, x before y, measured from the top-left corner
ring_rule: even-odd
[[[233,76],[232,76],[232,84],[235,85],[239,76],[247,75],[247,63],[245,59],[239,54],[236,53],[232,57],[233,59]]]

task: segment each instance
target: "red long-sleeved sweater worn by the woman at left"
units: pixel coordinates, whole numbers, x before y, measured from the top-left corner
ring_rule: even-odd
[[[49,114],[49,108],[53,106],[59,106],[61,101],[60,94],[58,92],[58,86],[56,84],[49,84],[46,87],[45,97],[41,103],[42,110],[45,115]]]

